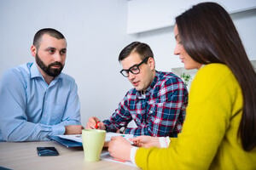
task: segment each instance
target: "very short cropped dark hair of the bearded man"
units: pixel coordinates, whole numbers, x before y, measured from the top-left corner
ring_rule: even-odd
[[[39,47],[41,39],[44,36],[44,34],[48,34],[49,36],[55,37],[57,39],[65,39],[65,37],[61,34],[60,31],[56,31],[53,28],[43,28],[39,30],[34,36],[33,45],[36,46],[36,48]]]

